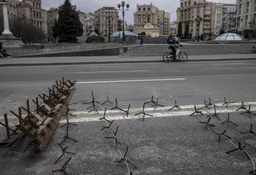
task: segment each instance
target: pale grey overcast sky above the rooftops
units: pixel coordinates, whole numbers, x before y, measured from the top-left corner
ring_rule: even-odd
[[[121,3],[122,0],[71,0],[72,4],[76,4],[77,10],[85,13],[98,10],[102,6],[115,6]],[[236,0],[211,0],[216,3],[236,3]],[[60,6],[64,0],[42,0],[42,8],[49,10],[51,7]],[[159,8],[171,13],[171,21],[176,20],[176,9],[179,7],[180,0],[125,0],[125,3],[130,4],[129,11],[125,13],[125,20],[129,24],[133,24],[133,13],[136,11],[136,4],[153,3]],[[121,17],[121,13],[119,15]]]

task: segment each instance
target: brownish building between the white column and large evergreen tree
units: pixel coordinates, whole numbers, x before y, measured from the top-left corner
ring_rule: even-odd
[[[17,3],[17,17],[32,22],[47,34],[47,15],[41,0],[23,0]]]

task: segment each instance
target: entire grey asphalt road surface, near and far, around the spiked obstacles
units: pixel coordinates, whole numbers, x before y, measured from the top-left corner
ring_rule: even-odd
[[[175,99],[179,105],[193,105],[202,104],[209,97],[212,102],[224,97],[236,102],[255,102],[256,97],[256,61],[9,67],[0,68],[1,112],[17,111],[27,98],[47,91],[47,87],[61,77],[77,80],[74,102],[90,101],[90,91],[93,90],[96,100],[104,102],[109,95],[111,101],[118,98],[121,107],[131,103],[131,108],[139,108],[142,102],[150,100],[151,95],[157,96],[159,103],[164,105],[172,105]],[[73,107],[78,113],[88,105],[78,103]],[[209,114],[207,110],[203,112],[205,116]],[[84,115],[84,118],[90,117]],[[96,119],[102,117],[92,115]],[[227,119],[226,113],[220,114],[221,121],[212,118],[211,124],[216,125],[212,130],[221,133],[227,129],[226,133],[231,137],[231,140],[221,137],[218,143],[218,136],[198,123],[207,121],[205,116],[166,115],[146,118],[145,122],[141,118],[124,117],[115,120],[113,129],[119,126],[117,139],[122,143],[120,151],[124,154],[126,146],[130,148],[128,160],[138,166],[138,169],[129,167],[134,174],[249,174],[253,168],[252,161],[242,151],[225,152],[236,148],[232,143],[240,141],[244,145],[244,142],[254,142],[245,150],[256,162],[255,136],[240,133],[250,130],[250,123],[255,130],[256,118],[233,111],[230,116],[237,127],[221,124]],[[108,114],[107,118],[111,117]],[[104,123],[96,119],[70,127],[70,137],[79,142],[67,141],[64,146],[76,155],[64,155],[57,165],[53,165],[61,155],[57,142],[65,135],[65,128],[59,126],[41,154],[23,153],[27,140],[17,142],[11,148],[0,149],[1,172],[55,174],[51,170],[58,169],[71,156],[68,174],[128,174],[125,164],[115,163],[120,155],[113,141],[104,139],[111,133],[101,131]],[[3,137],[4,128],[0,127],[0,139]]]

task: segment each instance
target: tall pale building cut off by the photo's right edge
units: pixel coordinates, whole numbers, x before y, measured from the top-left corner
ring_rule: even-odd
[[[246,31],[256,30],[256,0],[237,0],[236,30],[246,36]]]

